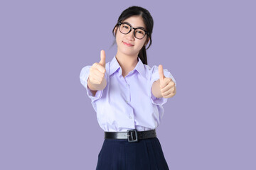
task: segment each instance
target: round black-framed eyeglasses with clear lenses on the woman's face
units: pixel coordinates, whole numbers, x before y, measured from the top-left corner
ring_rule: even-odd
[[[133,28],[129,23],[118,23],[118,25],[120,32],[123,34],[128,34],[132,29],[134,29],[134,37],[139,40],[144,38],[146,34],[149,35],[149,33],[142,27]]]

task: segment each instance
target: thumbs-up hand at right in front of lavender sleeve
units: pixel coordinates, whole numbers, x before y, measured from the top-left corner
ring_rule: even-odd
[[[176,86],[171,78],[164,76],[163,66],[159,65],[159,79],[161,96],[164,98],[171,98],[176,94]]]

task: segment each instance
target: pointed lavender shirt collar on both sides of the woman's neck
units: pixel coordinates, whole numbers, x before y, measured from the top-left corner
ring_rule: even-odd
[[[134,70],[137,70],[137,72],[139,72],[139,74],[142,75],[142,77],[144,77],[146,79],[146,73],[145,73],[145,69],[144,69],[144,64],[142,62],[142,60],[140,60],[139,57],[138,58],[138,63],[136,65],[136,67],[134,68]],[[118,69],[120,69],[120,65],[119,63],[117,62],[117,58],[116,56],[114,55],[113,59],[111,60],[110,62],[110,76],[116,72]],[[121,75],[121,72],[119,72],[119,76]]]

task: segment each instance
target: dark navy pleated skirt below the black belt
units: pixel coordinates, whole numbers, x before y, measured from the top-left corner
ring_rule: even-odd
[[[157,137],[128,142],[105,139],[98,155],[96,170],[169,169]]]

